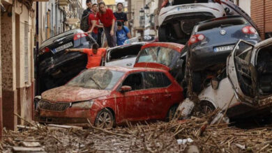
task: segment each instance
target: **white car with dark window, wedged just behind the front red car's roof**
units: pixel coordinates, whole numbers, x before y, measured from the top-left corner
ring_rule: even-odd
[[[135,42],[107,49],[103,66],[133,67],[136,57],[146,42]]]

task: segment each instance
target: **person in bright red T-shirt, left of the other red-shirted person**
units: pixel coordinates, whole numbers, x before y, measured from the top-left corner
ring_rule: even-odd
[[[91,33],[91,36],[98,41],[98,28],[103,28],[103,26],[100,26],[99,20],[96,18],[96,15],[98,13],[98,5],[97,3],[93,3],[92,6],[93,13],[90,13],[89,15],[89,31],[87,33]],[[99,44],[98,44],[99,45]]]

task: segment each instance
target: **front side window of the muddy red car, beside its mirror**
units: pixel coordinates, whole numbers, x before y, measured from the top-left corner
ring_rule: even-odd
[[[142,73],[129,74],[123,81],[122,86],[130,86],[131,90],[141,90],[142,86]]]

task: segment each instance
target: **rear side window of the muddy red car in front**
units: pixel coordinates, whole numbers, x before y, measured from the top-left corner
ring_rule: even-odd
[[[163,72],[146,72],[144,76],[144,86],[149,88],[163,88],[171,84],[171,81]]]

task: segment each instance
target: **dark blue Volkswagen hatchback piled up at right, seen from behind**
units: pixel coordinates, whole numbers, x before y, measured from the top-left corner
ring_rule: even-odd
[[[199,22],[188,41],[188,69],[192,90],[199,92],[207,77],[225,67],[227,56],[239,40],[256,44],[261,40],[256,29],[241,16],[227,16]]]

